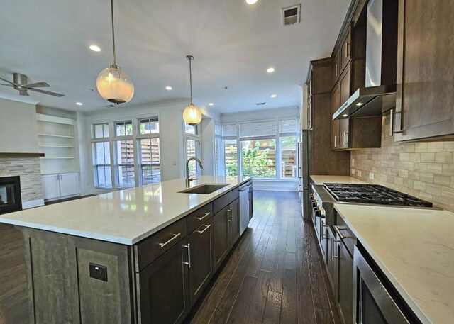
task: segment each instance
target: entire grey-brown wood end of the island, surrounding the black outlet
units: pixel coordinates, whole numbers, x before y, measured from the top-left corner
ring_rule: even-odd
[[[135,323],[131,247],[23,228],[31,323]],[[107,281],[89,264],[106,267]]]

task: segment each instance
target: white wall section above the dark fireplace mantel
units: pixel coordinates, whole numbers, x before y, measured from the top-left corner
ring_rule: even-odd
[[[0,99],[0,152],[39,152],[35,105]]]

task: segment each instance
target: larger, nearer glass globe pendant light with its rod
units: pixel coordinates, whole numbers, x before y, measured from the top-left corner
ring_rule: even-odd
[[[96,89],[101,97],[114,104],[131,101],[134,96],[134,84],[131,78],[116,65],[115,30],[114,30],[114,0],[111,0],[112,43],[114,47],[114,64],[103,69],[96,79]]]

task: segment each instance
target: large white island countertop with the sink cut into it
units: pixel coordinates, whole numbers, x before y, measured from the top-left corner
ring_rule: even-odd
[[[7,213],[0,215],[0,223],[133,245],[247,180],[199,176],[191,186],[228,186],[211,194],[182,194],[185,179],[175,179]]]

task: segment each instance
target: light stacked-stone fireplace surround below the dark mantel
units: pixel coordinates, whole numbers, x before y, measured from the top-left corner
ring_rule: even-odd
[[[0,153],[0,177],[21,177],[23,209],[44,205],[39,156]]]

